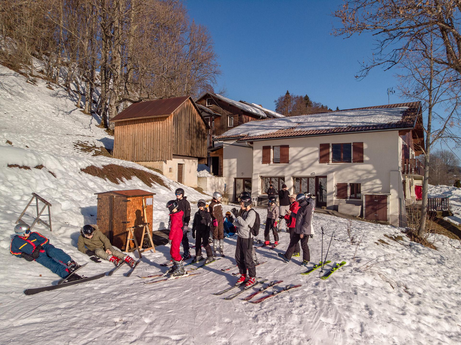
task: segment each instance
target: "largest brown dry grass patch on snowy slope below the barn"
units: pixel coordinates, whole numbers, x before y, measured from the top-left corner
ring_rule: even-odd
[[[107,164],[102,168],[95,165],[89,165],[86,168],[80,170],[89,175],[100,177],[104,180],[109,180],[115,184],[120,184],[124,179],[128,181],[133,177],[137,177],[149,187],[154,187],[155,183],[160,186],[167,187],[165,182],[159,176],[153,173],[136,168],[124,167],[117,164]]]

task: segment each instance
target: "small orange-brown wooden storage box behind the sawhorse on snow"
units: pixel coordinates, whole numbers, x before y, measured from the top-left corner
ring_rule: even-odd
[[[97,224],[103,234],[111,241],[112,246],[124,251],[127,229],[135,225],[149,223],[152,235],[152,208],[155,193],[141,189],[129,189],[95,193],[98,196]],[[145,213],[142,205],[146,205]],[[136,240],[142,246],[143,227],[135,229]]]

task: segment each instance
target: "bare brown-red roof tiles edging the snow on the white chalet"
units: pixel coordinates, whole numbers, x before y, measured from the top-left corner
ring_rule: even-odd
[[[392,123],[376,123],[366,126],[338,126],[331,127],[328,129],[311,129],[311,130],[299,130],[295,127],[287,127],[284,129],[274,130],[272,133],[266,133],[262,135],[220,135],[213,138],[213,140],[237,140],[237,141],[253,141],[253,140],[270,140],[277,138],[287,138],[287,137],[300,137],[300,136],[317,136],[317,135],[326,135],[326,134],[343,134],[351,132],[363,132],[363,131],[379,131],[379,130],[390,130],[390,129],[408,129],[415,128],[416,120],[422,123],[422,114],[421,114],[421,104],[420,102],[408,102],[408,103],[397,103],[397,104],[386,104],[386,105],[375,105],[363,108],[353,108],[353,109],[343,109],[341,111],[354,111],[354,110],[365,110],[365,109],[382,109],[382,108],[399,108],[399,107],[408,107],[402,113],[402,118],[400,121]],[[326,114],[334,114],[335,111],[328,112]],[[312,115],[319,115],[322,113],[308,114],[308,115],[299,115],[297,117],[309,117]],[[325,114],[325,115],[326,115]],[[286,117],[285,117],[286,118]],[[251,121],[245,125],[254,126],[255,129],[258,128],[258,124],[264,124],[265,127],[270,127],[272,121],[277,121],[280,119],[268,119],[261,121]],[[333,123],[334,125],[334,123]],[[238,129],[238,127],[237,127]]]

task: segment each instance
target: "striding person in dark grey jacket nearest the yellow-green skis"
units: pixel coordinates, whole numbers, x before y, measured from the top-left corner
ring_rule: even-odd
[[[304,193],[299,193],[296,195],[296,201],[299,203],[299,210],[296,213],[295,232],[290,238],[290,245],[288,246],[285,254],[278,253],[278,256],[281,257],[285,263],[289,263],[293,252],[295,251],[296,244],[301,240],[301,265],[307,266],[309,260],[311,259],[307,241],[309,240],[309,235],[314,234],[314,230],[312,228],[314,205],[309,201],[309,199],[306,199],[306,195],[304,195]]]

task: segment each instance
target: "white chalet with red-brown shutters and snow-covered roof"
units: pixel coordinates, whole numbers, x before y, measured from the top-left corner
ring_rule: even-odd
[[[312,193],[317,208],[356,205],[366,219],[399,226],[406,202],[420,198],[420,102],[255,120],[214,140],[223,142],[233,200],[249,191],[263,203],[270,183],[286,184],[290,193]]]

